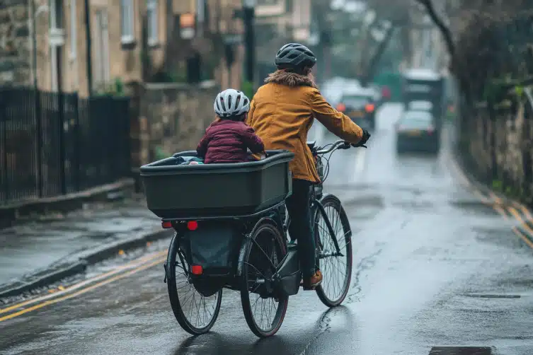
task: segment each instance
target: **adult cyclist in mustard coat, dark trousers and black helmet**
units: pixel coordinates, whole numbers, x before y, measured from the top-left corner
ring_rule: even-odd
[[[311,185],[320,182],[314,158],[307,146],[307,133],[314,119],[330,132],[354,145],[365,144],[369,132],[350,117],[329,105],[311,74],[316,57],[304,45],[289,43],[275,57],[277,71],[253,96],[246,123],[263,139],[265,149],[286,149],[294,153],[290,163],[292,195],[286,205],[291,223],[289,233],[297,240],[304,290],[313,290],[322,281],[316,267],[315,241],[309,199]]]

